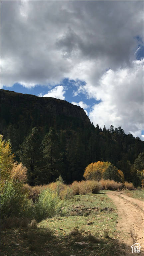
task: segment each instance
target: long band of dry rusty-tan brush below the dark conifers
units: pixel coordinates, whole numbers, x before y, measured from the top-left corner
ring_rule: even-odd
[[[49,188],[54,193],[57,193],[61,200],[71,199],[75,195],[86,195],[88,193],[98,193],[99,190],[135,190],[132,183],[128,182],[116,182],[113,180],[86,180],[86,181],[74,181],[71,185],[64,184],[62,178],[56,182],[52,182],[49,185],[34,186],[31,187],[28,184],[24,184],[23,189],[28,192],[29,199],[33,202],[37,201],[40,193]]]

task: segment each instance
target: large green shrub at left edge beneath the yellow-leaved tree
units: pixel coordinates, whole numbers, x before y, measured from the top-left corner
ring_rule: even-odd
[[[1,189],[0,214],[1,218],[7,217],[30,217],[32,202],[28,199],[28,194],[24,193],[23,184],[8,180]]]

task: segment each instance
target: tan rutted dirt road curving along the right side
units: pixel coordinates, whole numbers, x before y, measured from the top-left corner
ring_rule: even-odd
[[[109,191],[106,193],[117,207],[119,220],[117,223],[118,240],[125,244],[125,255],[135,255],[131,246],[139,243],[142,247],[140,256],[144,249],[144,203],[135,198],[126,196],[123,192]]]

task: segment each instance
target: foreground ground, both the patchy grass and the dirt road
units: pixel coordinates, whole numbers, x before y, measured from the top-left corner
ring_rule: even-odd
[[[1,255],[132,256],[131,246],[139,243],[143,256],[142,198],[143,190],[102,190],[66,200],[63,215],[36,226],[16,227],[10,219],[1,228]],[[81,241],[89,246],[75,245]]]

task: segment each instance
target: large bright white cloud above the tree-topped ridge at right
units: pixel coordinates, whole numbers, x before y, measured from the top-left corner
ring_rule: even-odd
[[[125,133],[141,137],[143,130],[143,60],[133,61],[131,67],[107,71],[99,87],[86,87],[90,97],[101,99],[93,106],[89,118],[101,128],[121,126]]]

